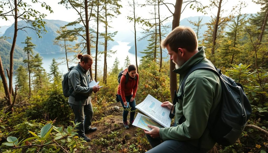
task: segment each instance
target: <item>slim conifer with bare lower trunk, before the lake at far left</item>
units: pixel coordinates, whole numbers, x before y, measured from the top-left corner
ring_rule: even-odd
[[[32,72],[32,62],[33,62],[33,48],[36,46],[31,42],[31,37],[26,37],[24,44],[26,46],[23,48],[24,52],[27,53],[27,59],[24,59],[23,62],[27,63],[28,65],[28,72],[29,72],[29,96],[31,96],[31,72]]]

